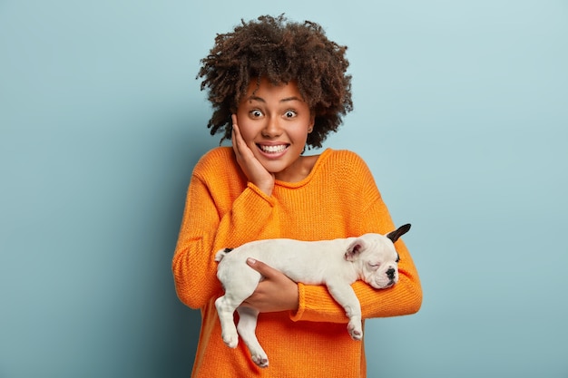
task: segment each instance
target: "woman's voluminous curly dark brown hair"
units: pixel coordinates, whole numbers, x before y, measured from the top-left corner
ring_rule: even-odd
[[[342,117],[353,110],[351,75],[347,74],[347,46],[329,41],[316,23],[290,22],[284,15],[262,15],[217,34],[209,55],[201,59],[197,79],[208,89],[213,107],[207,124],[211,135],[230,139],[230,115],[237,111],[251,80],[266,77],[275,85],[295,81],[315,116],[308,147],[321,147],[330,131],[337,131]]]

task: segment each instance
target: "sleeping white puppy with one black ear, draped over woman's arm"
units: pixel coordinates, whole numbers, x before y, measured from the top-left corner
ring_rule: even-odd
[[[295,282],[328,286],[329,294],[343,306],[349,318],[348,333],[354,340],[361,340],[361,305],[351,284],[361,279],[377,289],[395,285],[398,281],[398,254],[393,243],[408,229],[409,224],[387,235],[365,234],[322,241],[265,239],[234,249],[221,249],[215,260],[219,261],[217,277],[225,295],[215,301],[215,306],[223,341],[235,348],[240,334],[249,348],[252,361],[260,367],[269,365],[268,356],[255,334],[259,312],[240,306],[262,279],[259,272],[247,266],[249,257],[278,269]],[[233,320],[235,310],[240,315],[238,327]]]

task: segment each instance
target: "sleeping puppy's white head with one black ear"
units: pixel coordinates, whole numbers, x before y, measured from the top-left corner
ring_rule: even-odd
[[[398,282],[398,253],[394,243],[410,229],[406,224],[387,235],[366,234],[348,247],[345,258],[357,267],[359,278],[377,289]]]

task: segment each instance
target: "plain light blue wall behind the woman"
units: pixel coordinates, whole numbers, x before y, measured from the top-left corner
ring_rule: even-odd
[[[568,377],[568,2],[266,3],[0,1],[0,377],[189,376],[171,256],[219,142],[195,75],[280,13],[349,46],[326,147],[413,224],[424,305],[367,322],[369,377]]]

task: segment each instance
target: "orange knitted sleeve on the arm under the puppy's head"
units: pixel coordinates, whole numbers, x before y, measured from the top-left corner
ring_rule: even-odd
[[[360,211],[357,211],[357,221],[355,219],[353,221],[352,236],[367,232],[387,234],[397,227],[367,165],[362,160],[359,160],[358,164],[359,166],[354,169],[357,172],[358,184],[352,185],[361,185],[357,188],[360,200],[343,205],[360,206]],[[416,313],[422,304],[422,289],[412,257],[402,239],[398,239],[395,247],[400,256],[399,280],[395,286],[377,290],[363,281],[357,281],[352,285],[361,304],[363,318],[410,315]],[[328,294],[325,286],[303,284],[299,284],[299,310],[290,317],[294,321],[348,322],[345,310]]]

